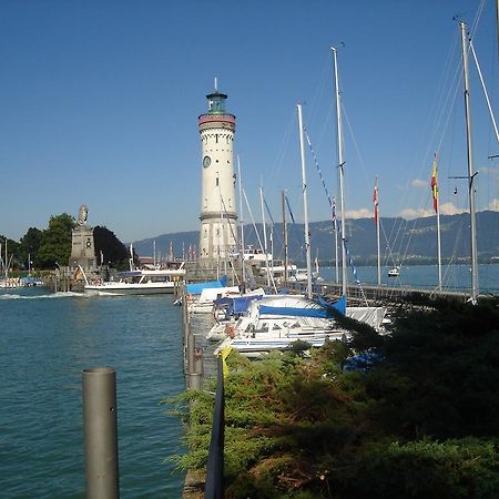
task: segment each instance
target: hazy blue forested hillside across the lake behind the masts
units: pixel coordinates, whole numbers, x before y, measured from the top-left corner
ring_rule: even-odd
[[[380,247],[384,262],[394,263],[427,263],[437,258],[437,220],[436,216],[407,221],[404,218],[381,218]],[[442,258],[454,261],[467,259],[470,253],[469,215],[441,215],[441,254]],[[262,224],[257,224],[262,234]],[[330,221],[309,224],[313,258],[318,254],[322,262],[334,259],[334,231]],[[303,224],[288,224],[288,254],[296,262],[305,259],[303,249]],[[357,264],[369,264],[376,261],[376,227],[373,218],[347,221],[346,235],[348,251]],[[172,245],[176,257],[187,255],[189,248],[197,247],[198,232],[181,232],[164,234],[159,237],[134,243],[140,255],[150,256],[153,253],[153,242],[156,253],[166,256]],[[262,241],[263,241],[263,236]],[[499,262],[499,212],[479,212],[477,214],[478,255],[481,262]],[[255,230],[245,225],[246,244],[258,245]],[[338,236],[339,238],[339,236]],[[271,240],[267,225],[267,241]],[[283,224],[275,224],[273,231],[274,254],[283,256]],[[271,245],[271,243],[268,243]]]

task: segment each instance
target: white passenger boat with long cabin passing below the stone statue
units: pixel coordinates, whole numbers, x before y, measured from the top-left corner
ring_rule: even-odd
[[[85,276],[84,291],[89,295],[159,295],[173,294],[184,281],[184,263],[177,268],[134,269],[120,274],[119,281],[95,279],[89,283]]]

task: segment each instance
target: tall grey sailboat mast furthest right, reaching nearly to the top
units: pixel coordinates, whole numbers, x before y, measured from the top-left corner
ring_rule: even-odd
[[[475,207],[475,186],[473,180],[473,154],[471,141],[471,104],[469,91],[469,65],[468,65],[468,33],[465,22],[459,23],[461,29],[462,45],[462,71],[465,83],[465,114],[466,114],[466,143],[468,150],[468,197],[470,216],[470,247],[471,247],[471,303],[477,303],[478,297],[478,263],[477,263],[477,228],[476,228],[476,207]]]

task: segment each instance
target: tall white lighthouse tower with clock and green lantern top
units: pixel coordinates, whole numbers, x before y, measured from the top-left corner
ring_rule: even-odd
[[[226,261],[236,248],[233,143],[235,116],[225,112],[227,95],[216,89],[206,95],[208,112],[198,119],[202,143],[201,232],[203,266]]]

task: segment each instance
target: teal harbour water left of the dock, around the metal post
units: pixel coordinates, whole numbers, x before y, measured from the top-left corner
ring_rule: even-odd
[[[163,460],[182,426],[163,397],[184,389],[181,310],[170,296],[0,292],[0,496],[83,498],[81,371],[118,376],[123,498],[176,498],[184,480]]]

